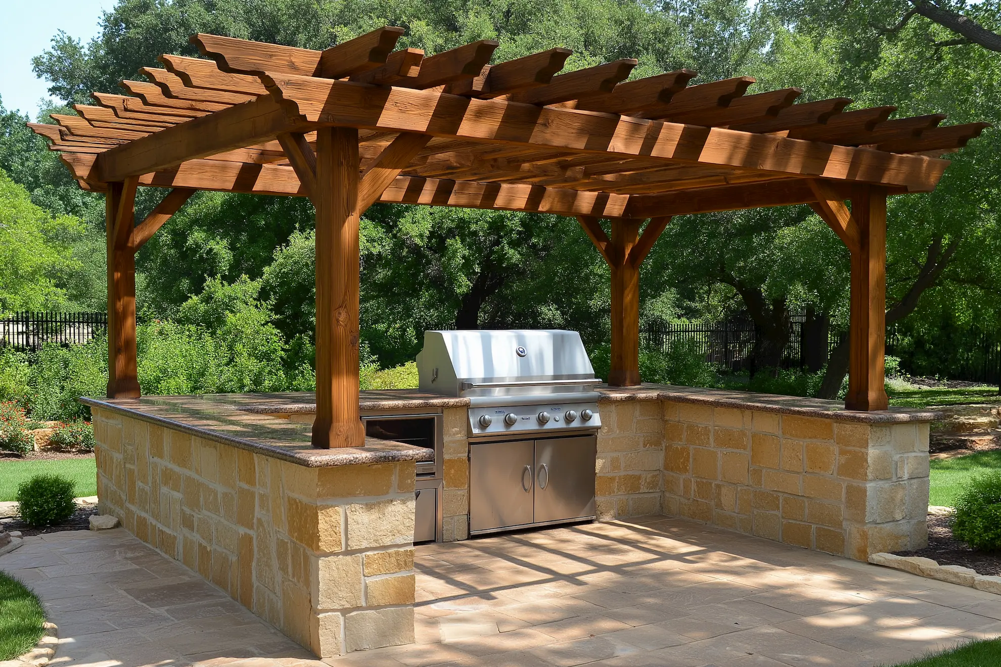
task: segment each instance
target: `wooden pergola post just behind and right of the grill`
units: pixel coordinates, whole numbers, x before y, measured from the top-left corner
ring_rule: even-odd
[[[612,369],[609,385],[640,384],[640,262],[629,261],[640,240],[638,218],[613,218],[609,244],[612,270]]]

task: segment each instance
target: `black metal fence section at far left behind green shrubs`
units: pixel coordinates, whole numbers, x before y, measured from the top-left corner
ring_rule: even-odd
[[[0,346],[37,350],[45,343],[82,345],[107,329],[107,313],[19,312],[0,318]]]

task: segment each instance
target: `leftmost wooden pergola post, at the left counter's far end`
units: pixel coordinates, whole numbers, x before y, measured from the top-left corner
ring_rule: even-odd
[[[135,254],[129,247],[138,178],[111,183],[104,199],[108,259],[108,398],[139,396]]]

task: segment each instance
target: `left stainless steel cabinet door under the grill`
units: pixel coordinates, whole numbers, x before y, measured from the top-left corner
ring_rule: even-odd
[[[532,440],[469,445],[469,530],[532,523]]]

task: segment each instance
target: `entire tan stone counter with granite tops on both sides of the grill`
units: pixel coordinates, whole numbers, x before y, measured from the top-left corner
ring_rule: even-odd
[[[644,385],[603,389],[599,520],[683,516],[865,561],[927,543],[938,413]],[[312,395],[82,399],[99,508],[316,655],[413,641],[414,463],[366,439],[310,446]],[[442,413],[445,540],[468,537],[468,401],[362,392]]]

